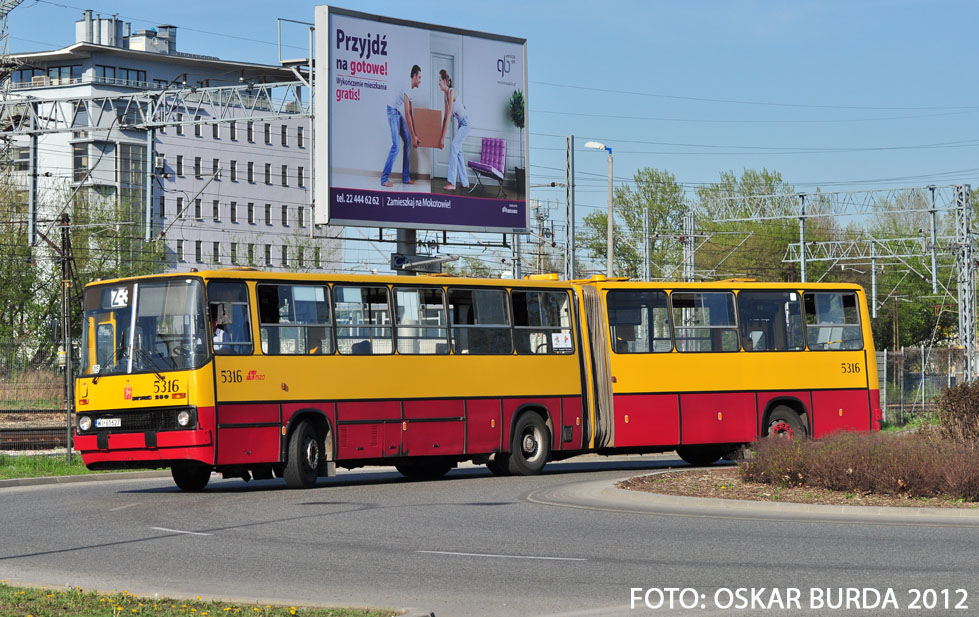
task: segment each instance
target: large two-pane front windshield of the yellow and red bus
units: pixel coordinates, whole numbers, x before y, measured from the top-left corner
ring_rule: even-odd
[[[197,279],[130,281],[85,291],[83,376],[197,368],[210,358],[207,341]]]

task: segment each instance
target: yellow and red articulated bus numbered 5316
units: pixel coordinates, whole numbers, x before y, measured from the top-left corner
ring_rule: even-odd
[[[90,469],[314,486],[336,467],[675,450],[880,428],[851,284],[265,273],[99,281],[84,295],[75,448]]]

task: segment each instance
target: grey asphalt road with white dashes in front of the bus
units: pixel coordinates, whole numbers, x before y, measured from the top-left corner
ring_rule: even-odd
[[[583,502],[573,487],[670,464],[680,463],[589,457],[549,464],[532,478],[468,468],[438,482],[407,482],[393,470],[341,472],[307,491],[212,480],[193,494],[162,478],[4,488],[0,578],[438,617],[979,614],[976,525],[635,511],[614,499],[576,507]],[[681,608],[677,596],[673,610],[640,600],[633,610],[634,587],[640,595],[692,589],[682,598],[688,606],[699,599]],[[725,591],[738,588],[755,590],[753,608],[750,591],[745,609]],[[787,610],[778,610],[773,588]],[[799,590],[798,609],[790,588]],[[825,588],[834,601],[838,588],[870,588],[882,599],[891,589],[900,608],[813,608],[814,590]],[[909,589],[936,590],[936,608],[910,608]],[[968,593],[968,610],[952,608],[962,602],[956,589]],[[651,592],[654,604],[658,598]],[[874,598],[861,595],[861,606]],[[921,600],[931,603],[927,594]]]

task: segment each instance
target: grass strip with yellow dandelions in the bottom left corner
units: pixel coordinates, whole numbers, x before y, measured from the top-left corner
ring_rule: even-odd
[[[173,598],[142,598],[128,591],[116,594],[84,591],[80,587],[54,590],[14,587],[0,581],[0,615],[17,617],[393,617],[389,609],[310,608],[271,604],[238,604]]]

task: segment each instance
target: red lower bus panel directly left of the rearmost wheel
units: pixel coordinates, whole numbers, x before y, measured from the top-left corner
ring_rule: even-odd
[[[681,394],[680,416],[684,444],[749,442],[758,426],[753,392]]]

